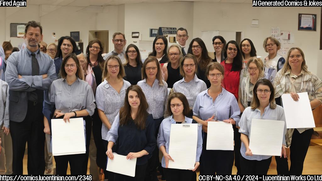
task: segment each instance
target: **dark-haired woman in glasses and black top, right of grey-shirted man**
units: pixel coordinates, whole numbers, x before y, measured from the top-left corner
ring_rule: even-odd
[[[140,51],[135,44],[129,44],[125,51],[125,77],[131,85],[137,85],[138,81],[142,80],[142,61]]]

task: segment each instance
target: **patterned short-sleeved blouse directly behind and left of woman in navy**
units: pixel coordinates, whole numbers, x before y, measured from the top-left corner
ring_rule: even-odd
[[[104,80],[96,89],[96,105],[97,108],[104,111],[107,119],[111,123],[114,122],[116,115],[122,106],[124,106],[126,89],[130,86],[130,82],[123,79],[123,86],[118,93],[107,80]],[[102,125],[102,139],[108,140],[107,132],[109,129]]]

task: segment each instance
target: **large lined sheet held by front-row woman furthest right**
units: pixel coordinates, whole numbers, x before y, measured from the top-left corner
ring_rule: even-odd
[[[254,155],[281,156],[284,121],[252,119],[249,148]]]

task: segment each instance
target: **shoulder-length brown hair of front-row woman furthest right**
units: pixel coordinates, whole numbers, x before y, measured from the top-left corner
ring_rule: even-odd
[[[253,89],[253,100],[251,101],[251,109],[254,110],[260,106],[260,100],[257,97],[257,87],[259,85],[267,85],[268,87],[270,87],[270,109],[275,109],[275,90],[272,82],[270,82],[268,79],[260,79],[256,82]]]

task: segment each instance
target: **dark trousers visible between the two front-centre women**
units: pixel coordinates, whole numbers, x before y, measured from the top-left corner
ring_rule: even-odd
[[[160,124],[164,118],[161,117],[159,119],[154,119],[154,128],[155,128],[155,137],[158,136]],[[145,181],[158,181],[158,178],[156,176],[156,168],[160,166],[160,161],[159,161],[159,148],[156,146],[156,148],[152,152],[152,157],[148,159],[147,162],[147,169],[146,169],[146,176],[145,176]],[[160,172],[162,172],[162,169],[159,169]]]

